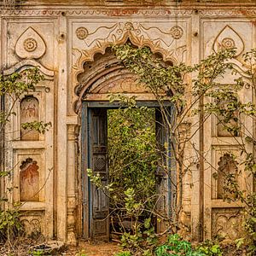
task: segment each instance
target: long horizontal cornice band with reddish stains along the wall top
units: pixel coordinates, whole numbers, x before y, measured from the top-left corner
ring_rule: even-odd
[[[256,16],[256,4],[247,7],[237,7],[236,8],[195,8],[195,7],[186,7],[186,8],[152,8],[152,9],[140,9],[140,8],[84,8],[79,7],[57,7],[50,6],[45,8],[44,6],[38,6],[38,8],[22,8],[22,9],[1,9],[1,16],[103,16],[103,17],[116,17],[116,16],[188,16],[188,15],[209,15],[209,16],[223,16],[223,15],[234,15],[240,17]]]

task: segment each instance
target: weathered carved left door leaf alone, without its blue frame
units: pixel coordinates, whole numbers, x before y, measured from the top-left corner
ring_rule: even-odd
[[[103,187],[108,184],[108,125],[107,109],[91,108],[89,162],[93,173],[100,175]],[[90,183],[90,238],[108,240],[108,195],[107,191]]]

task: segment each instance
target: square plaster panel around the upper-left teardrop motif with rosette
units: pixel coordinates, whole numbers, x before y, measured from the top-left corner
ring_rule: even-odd
[[[7,20],[7,66],[20,60],[40,60],[48,69],[54,68],[54,26],[45,20]]]

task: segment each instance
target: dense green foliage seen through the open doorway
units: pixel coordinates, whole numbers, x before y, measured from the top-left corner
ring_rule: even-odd
[[[108,163],[113,208],[124,204],[127,189],[134,189],[136,201],[155,194],[153,108],[108,110]]]

